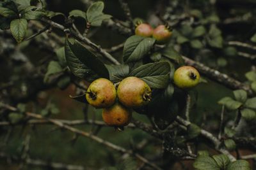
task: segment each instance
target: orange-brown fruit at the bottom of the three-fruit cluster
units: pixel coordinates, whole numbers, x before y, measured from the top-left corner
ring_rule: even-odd
[[[132,118],[132,111],[116,102],[110,108],[102,110],[103,121],[109,126],[124,127],[128,125]]]

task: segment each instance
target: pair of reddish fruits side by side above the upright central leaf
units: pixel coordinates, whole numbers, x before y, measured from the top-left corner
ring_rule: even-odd
[[[143,37],[153,37],[157,44],[165,44],[172,36],[170,27],[166,25],[158,25],[155,29],[149,24],[138,23],[136,25],[135,34]]]

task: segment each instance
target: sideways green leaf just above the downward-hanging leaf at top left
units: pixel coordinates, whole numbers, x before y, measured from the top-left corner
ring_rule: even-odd
[[[40,20],[46,14],[36,6],[28,6],[23,11],[23,18],[26,20]]]

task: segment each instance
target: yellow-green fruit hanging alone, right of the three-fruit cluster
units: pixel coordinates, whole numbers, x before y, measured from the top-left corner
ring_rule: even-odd
[[[199,83],[200,74],[191,66],[179,67],[173,75],[173,81],[180,89],[189,89]]]

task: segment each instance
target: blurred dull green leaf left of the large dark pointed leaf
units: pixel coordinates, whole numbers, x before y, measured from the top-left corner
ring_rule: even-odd
[[[49,83],[50,76],[61,73],[62,71],[63,70],[58,62],[56,61],[49,62],[49,65],[47,67],[47,72],[45,73],[45,76],[44,76],[44,82]]]

